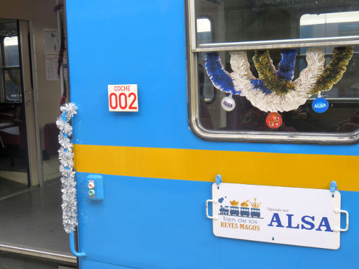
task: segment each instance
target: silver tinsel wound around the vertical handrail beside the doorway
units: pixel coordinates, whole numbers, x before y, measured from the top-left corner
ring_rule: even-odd
[[[77,113],[74,103],[61,106],[62,114],[56,120],[59,133],[59,160],[62,174],[62,223],[66,233],[71,233],[77,226],[76,181],[74,172],[74,152],[69,137],[72,136],[72,126],[69,121]]]

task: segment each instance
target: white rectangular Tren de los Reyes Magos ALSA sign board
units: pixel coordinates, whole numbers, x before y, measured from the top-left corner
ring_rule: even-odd
[[[339,249],[340,193],[311,188],[213,184],[219,237]]]

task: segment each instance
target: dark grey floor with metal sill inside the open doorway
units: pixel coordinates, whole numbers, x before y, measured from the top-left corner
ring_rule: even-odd
[[[0,200],[0,251],[76,263],[62,228],[60,180]]]

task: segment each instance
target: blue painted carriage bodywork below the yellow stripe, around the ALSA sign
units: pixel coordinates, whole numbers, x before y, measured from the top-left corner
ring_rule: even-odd
[[[341,191],[351,228],[341,233],[339,250],[328,250],[216,237],[205,216],[208,182],[102,175],[105,199],[96,202],[86,197],[87,176],[77,177],[83,261],[166,269],[359,267],[356,192]]]

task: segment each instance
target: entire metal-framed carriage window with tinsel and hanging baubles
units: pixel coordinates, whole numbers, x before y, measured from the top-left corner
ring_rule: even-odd
[[[196,135],[358,142],[358,1],[188,1]]]

